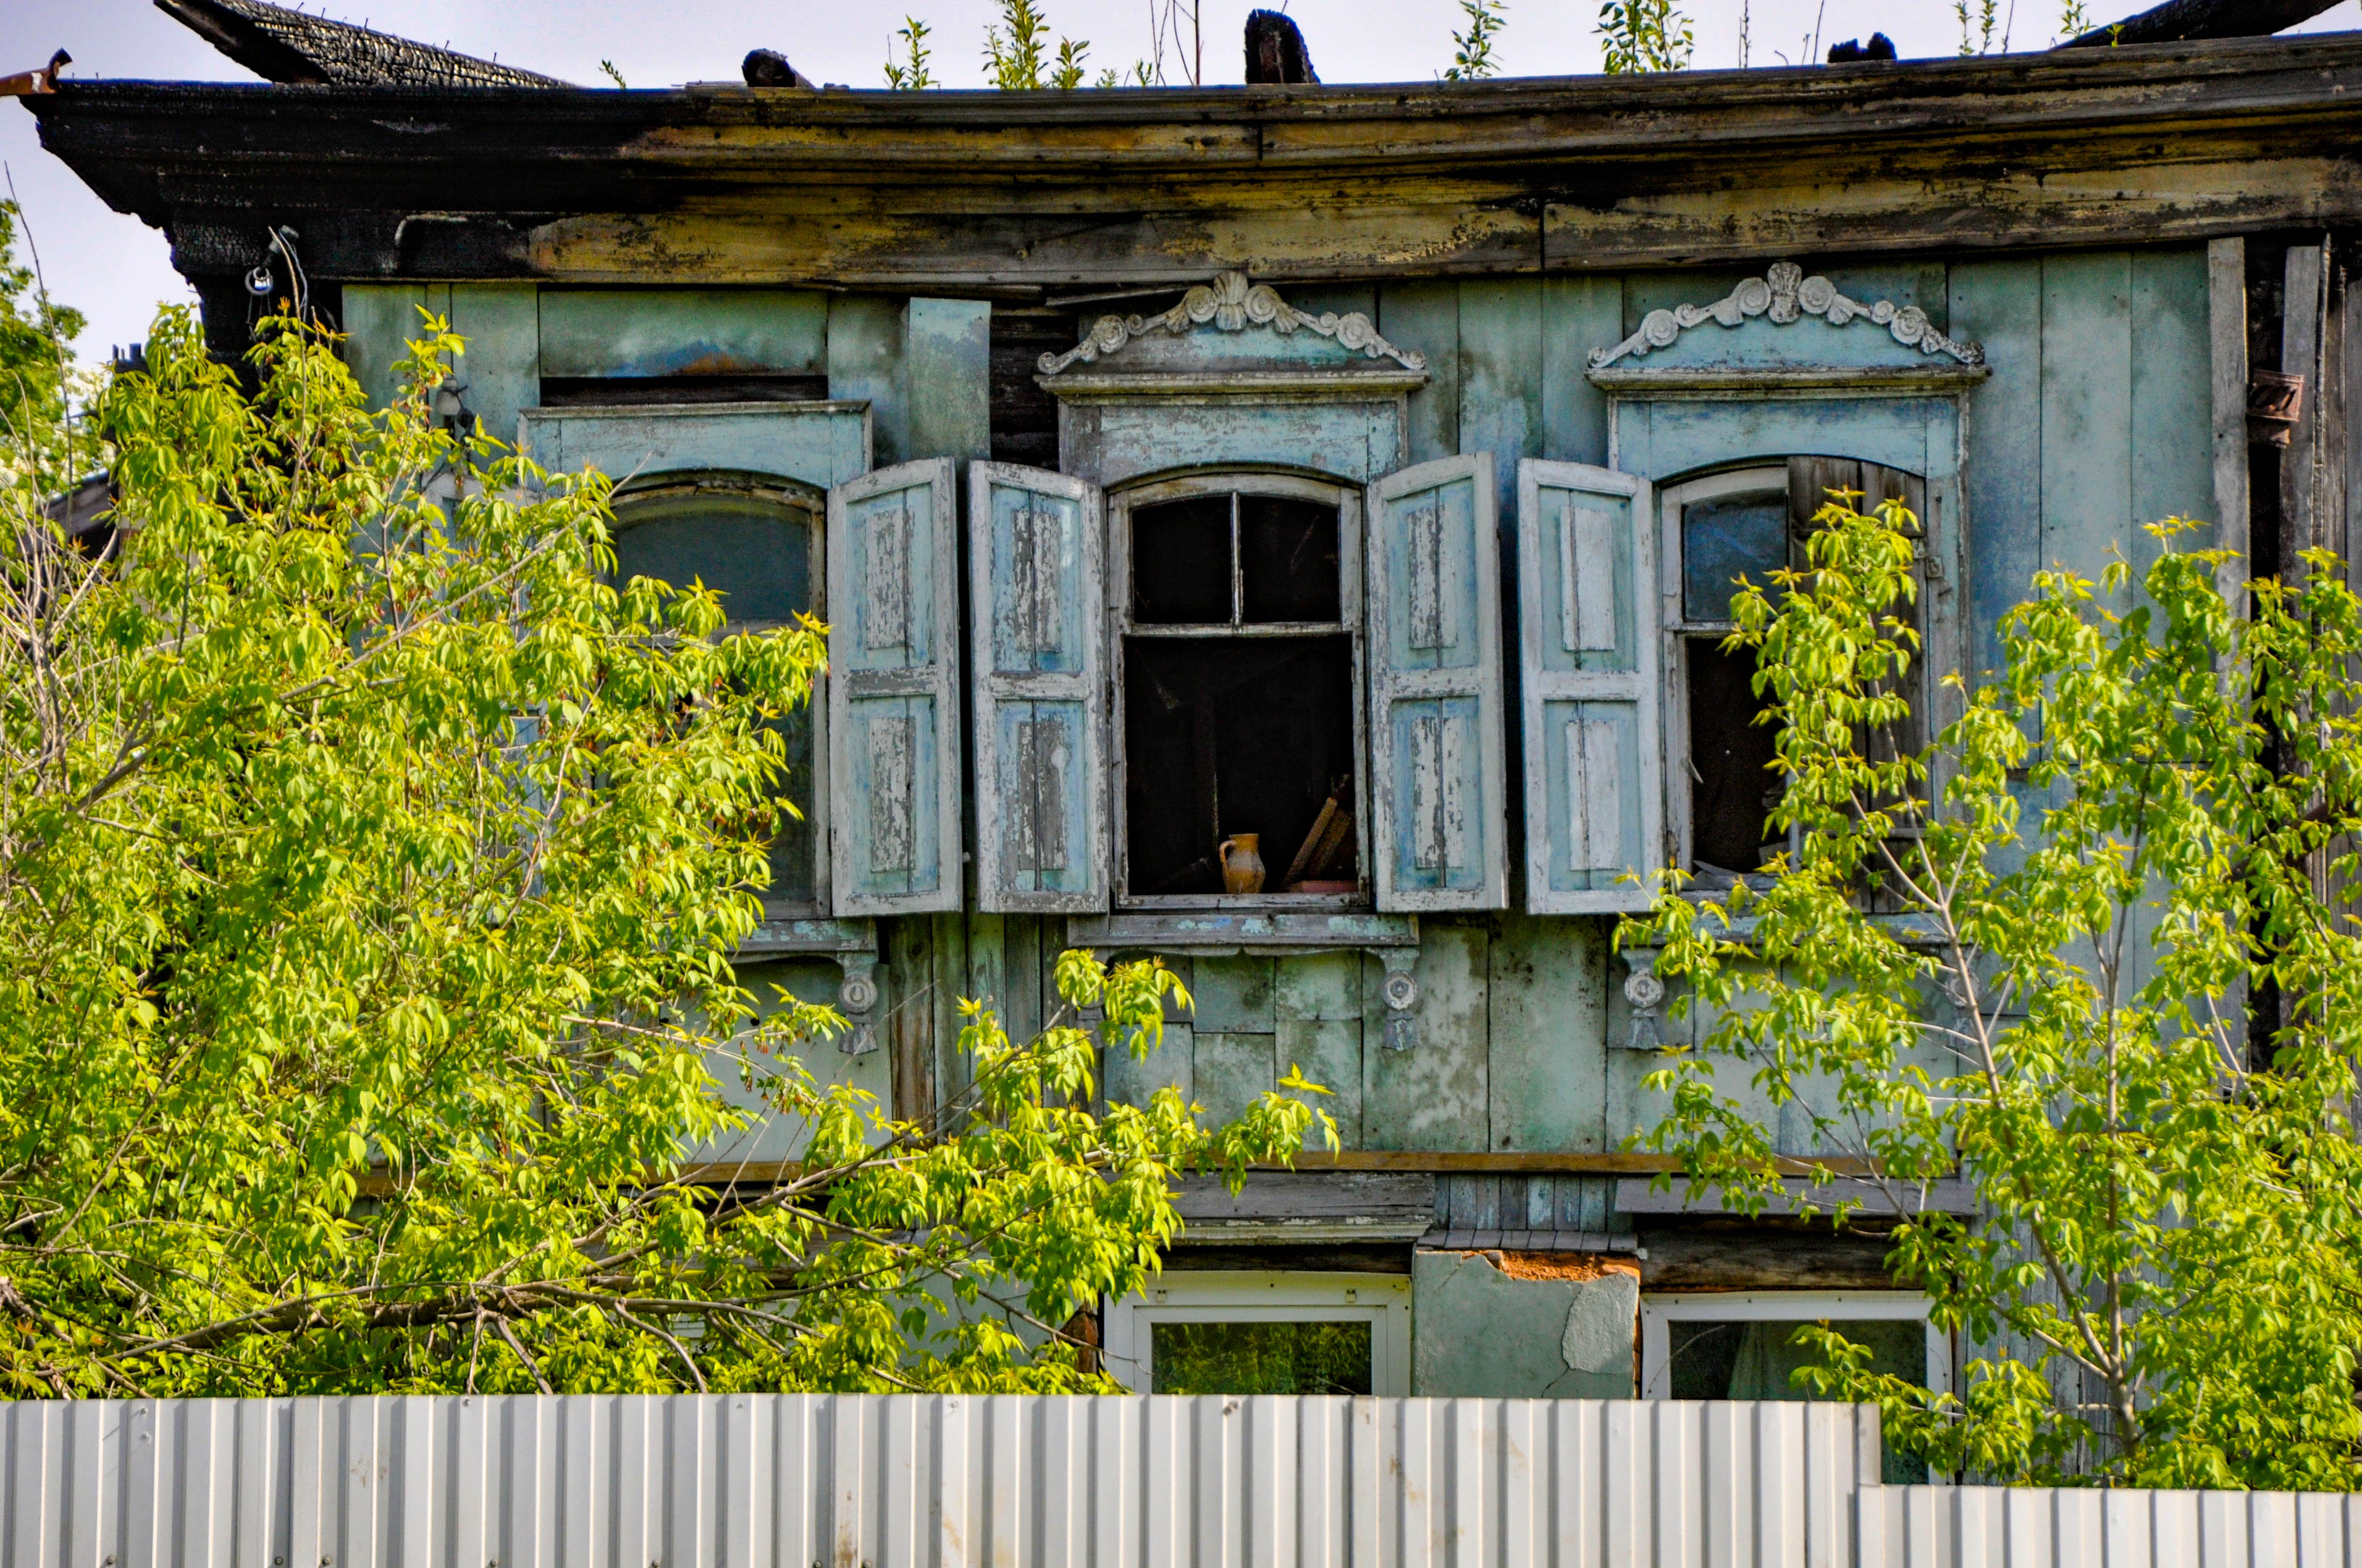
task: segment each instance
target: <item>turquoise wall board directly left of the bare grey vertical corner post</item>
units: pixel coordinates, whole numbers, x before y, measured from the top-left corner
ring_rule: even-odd
[[[2133,538],[2123,555],[2145,574],[2159,555],[2147,531],[2166,517],[2216,520],[2213,349],[2206,250],[2133,253]],[[2206,432],[2208,439],[2199,439]],[[2204,534],[2182,536],[2190,550]]]

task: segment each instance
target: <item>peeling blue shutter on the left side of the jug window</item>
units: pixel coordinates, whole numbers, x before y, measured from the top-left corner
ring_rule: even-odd
[[[976,886],[987,912],[1108,907],[1101,491],[968,465]]]

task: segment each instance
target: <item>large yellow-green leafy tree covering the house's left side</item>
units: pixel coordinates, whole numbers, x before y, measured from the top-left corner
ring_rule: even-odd
[[[1098,1386],[1049,1327],[1311,1086],[1089,1115],[1186,1001],[1089,954],[924,1124],[815,1082],[730,954],[822,628],[616,586],[605,479],[432,418],[458,352],[371,413],[267,321],[248,399],[165,312],[113,543],[0,489],[0,1396]],[[713,1065],[801,1162],[685,1164]]]

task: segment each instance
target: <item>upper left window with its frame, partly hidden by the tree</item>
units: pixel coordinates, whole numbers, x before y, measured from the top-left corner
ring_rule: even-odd
[[[614,496],[614,581],[650,576],[720,595],[730,631],[770,631],[820,614],[827,496],[777,479],[699,475]],[[777,720],[787,775],[770,838],[770,916],[822,914],[824,767],[813,706]],[[794,805],[794,810],[791,810]]]

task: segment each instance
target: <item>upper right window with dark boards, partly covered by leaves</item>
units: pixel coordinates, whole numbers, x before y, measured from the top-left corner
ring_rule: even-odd
[[[1760,876],[1786,850],[1769,817],[1781,798],[1776,772],[1779,732],[1767,723],[1769,697],[1755,692],[1755,654],[1724,652],[1731,635],[1731,597],[1741,579],[1769,586],[1781,569],[1807,564],[1805,541],[1831,491],[1861,491],[1857,508],[1871,510],[1897,498],[1925,520],[1925,484],[1875,463],[1847,458],[1786,458],[1783,463],[1705,475],[1668,484],[1663,538],[1670,562],[1668,673],[1675,723],[1672,812],[1682,864],[1701,890],[1724,890]],[[1923,614],[1925,595],[1899,607],[1906,621]],[[1923,649],[1925,654],[1925,649]],[[1925,704],[1925,656],[1913,661],[1913,713]],[[1904,734],[1864,737],[1875,756],[1916,749],[1916,727]]]

